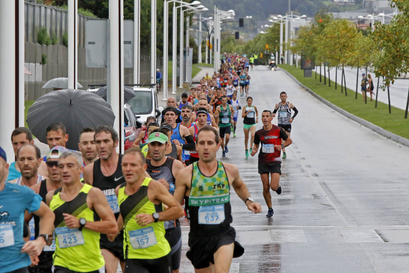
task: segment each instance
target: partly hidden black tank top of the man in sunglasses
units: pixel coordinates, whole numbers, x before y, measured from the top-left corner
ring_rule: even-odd
[[[46,179],[42,180],[40,185],[40,191],[38,194],[41,196],[43,199],[43,202],[46,203],[45,201],[45,196],[47,195],[47,183]],[[37,239],[38,233],[40,231],[40,217],[34,214],[33,216],[34,219],[34,239]],[[54,235],[55,238],[55,235]],[[52,267],[52,255],[54,254],[55,251],[55,239],[52,241],[51,246],[44,246],[43,252],[38,256],[39,262],[36,265],[36,268],[40,269],[49,269],[51,270]]]

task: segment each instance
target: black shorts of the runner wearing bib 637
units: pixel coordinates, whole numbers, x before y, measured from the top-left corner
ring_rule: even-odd
[[[189,232],[189,250],[186,257],[192,262],[194,268],[200,269],[208,267],[210,262],[214,264],[213,254],[220,246],[234,243],[233,258],[240,257],[244,253],[244,248],[236,239],[236,230],[229,226],[222,232],[214,235],[202,236],[200,234],[192,234]]]

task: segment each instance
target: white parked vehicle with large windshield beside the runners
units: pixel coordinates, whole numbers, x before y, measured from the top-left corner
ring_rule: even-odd
[[[141,122],[146,121],[149,116],[160,117],[163,107],[158,106],[158,99],[156,89],[151,86],[146,87],[135,87],[133,88],[135,92],[135,97],[133,97],[128,104],[135,111],[137,119]]]

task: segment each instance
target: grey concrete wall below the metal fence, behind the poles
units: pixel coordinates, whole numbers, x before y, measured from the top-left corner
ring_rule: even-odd
[[[47,63],[42,63],[42,55],[47,55]],[[43,89],[50,79],[67,77],[67,47],[63,45],[39,45],[25,43],[25,67],[32,75],[25,75],[25,100],[36,100],[52,91]],[[151,79],[151,61],[148,56],[141,56],[140,83],[149,83]],[[162,68],[162,60],[157,59],[157,67]],[[162,70],[162,69],[161,69]],[[78,82],[88,89],[88,84],[106,83],[106,68],[85,67],[85,48],[78,48]],[[124,82],[133,82],[133,68],[124,69]]]

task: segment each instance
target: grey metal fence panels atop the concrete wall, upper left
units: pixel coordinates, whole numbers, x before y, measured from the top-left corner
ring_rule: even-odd
[[[46,28],[50,38],[56,37],[62,45],[67,32],[68,11],[54,6],[25,1],[25,42],[37,43],[38,30]],[[78,14],[78,46],[85,47],[85,20],[88,16]]]

